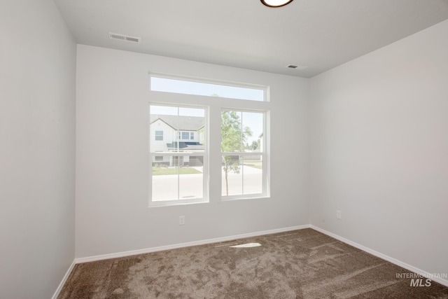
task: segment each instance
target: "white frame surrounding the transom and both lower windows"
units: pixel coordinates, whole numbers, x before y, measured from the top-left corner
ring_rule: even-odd
[[[240,88],[258,89],[263,90],[264,100],[250,100],[250,99],[235,99],[226,97],[216,97],[214,95],[191,95],[181,94],[169,91],[157,91],[151,90],[151,77],[156,78],[169,78],[180,81],[194,81],[200,83],[211,83],[217,85],[230,85]],[[151,190],[152,190],[152,176],[150,173],[150,204],[149,207],[166,207],[169,205],[179,204],[193,204],[193,203],[207,203],[207,202],[232,202],[235,200],[251,200],[260,198],[270,198],[270,111],[271,103],[269,101],[269,86],[259,85],[252,83],[235,83],[230,81],[217,81],[206,80],[202,78],[193,78],[186,76],[172,76],[160,73],[149,74],[149,90],[150,101],[149,104],[160,106],[190,106],[192,108],[206,108],[207,121],[206,121],[206,133],[204,138],[206,139],[206,146],[204,148],[204,200],[202,202],[188,202],[183,200],[182,202],[167,202],[162,201],[158,204],[151,202]],[[221,163],[221,110],[235,110],[235,111],[247,111],[247,112],[260,112],[264,113],[263,118],[263,141],[262,141],[262,188],[261,194],[251,195],[222,195],[222,163]],[[197,134],[200,134],[197,132]],[[180,155],[181,153],[176,153]],[[232,153],[235,154],[235,153]],[[243,155],[253,155],[253,153],[243,153]],[[150,163],[150,165],[152,165]],[[213,181],[212,185],[210,182]]]

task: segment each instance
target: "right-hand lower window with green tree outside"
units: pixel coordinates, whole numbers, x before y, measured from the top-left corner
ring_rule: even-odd
[[[221,159],[223,199],[267,195],[265,113],[221,111]]]

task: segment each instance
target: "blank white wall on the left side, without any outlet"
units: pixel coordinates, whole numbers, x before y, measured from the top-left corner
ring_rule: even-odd
[[[76,43],[50,0],[0,4],[0,298],[50,298],[74,258]]]

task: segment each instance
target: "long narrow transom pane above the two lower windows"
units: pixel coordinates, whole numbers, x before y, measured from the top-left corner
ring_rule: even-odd
[[[203,83],[181,79],[161,78],[157,76],[151,76],[151,90],[181,93],[185,95],[205,95],[209,97],[228,97],[230,99],[265,101],[264,88]]]

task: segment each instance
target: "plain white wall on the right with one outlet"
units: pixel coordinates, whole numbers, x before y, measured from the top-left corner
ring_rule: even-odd
[[[448,271],[447,36],[445,21],[310,90],[311,223],[431,273]]]

